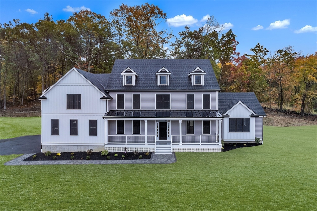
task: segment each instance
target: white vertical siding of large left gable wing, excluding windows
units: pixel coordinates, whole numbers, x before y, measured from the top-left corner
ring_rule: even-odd
[[[67,94],[81,94],[81,109],[66,109]],[[104,146],[105,121],[102,116],[106,113],[107,102],[100,99],[102,93],[85,78],[71,70],[44,95],[47,99],[42,100],[43,150],[44,145],[55,145],[56,150],[61,148],[57,145]],[[59,120],[58,136],[51,135],[51,119]],[[71,119],[78,119],[78,136],[70,136]],[[97,136],[89,136],[89,119],[97,120]]]

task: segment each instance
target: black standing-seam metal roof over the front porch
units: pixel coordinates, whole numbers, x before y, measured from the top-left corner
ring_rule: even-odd
[[[217,110],[110,110],[104,117],[204,118],[219,117]]]

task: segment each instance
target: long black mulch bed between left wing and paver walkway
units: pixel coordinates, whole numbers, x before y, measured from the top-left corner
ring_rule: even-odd
[[[23,161],[40,161],[40,160],[54,160],[53,156],[56,156],[55,160],[71,160],[71,152],[61,152],[60,156],[56,156],[57,153],[51,153],[50,156],[45,156],[45,153],[39,152],[36,153],[36,158],[33,159],[32,156],[25,158]],[[145,154],[146,152],[139,152],[138,155],[134,155],[133,152],[109,152],[107,156],[101,156],[101,152],[92,152],[90,160],[107,160],[107,157],[110,157],[110,160],[123,160],[122,155],[124,155],[124,160],[137,160],[137,159],[150,159],[152,152],[149,152],[149,155]],[[118,154],[117,157],[114,154]],[[142,155],[142,158],[139,156]],[[86,160],[87,152],[74,152],[74,160]]]

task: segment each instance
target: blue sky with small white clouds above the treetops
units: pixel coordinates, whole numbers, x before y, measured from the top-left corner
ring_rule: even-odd
[[[72,11],[89,8],[109,18],[122,3],[158,5],[169,18],[173,34],[204,25],[203,17],[213,15],[226,32],[231,28],[239,42],[237,51],[250,53],[257,42],[272,53],[291,45],[302,54],[317,51],[317,1],[4,1],[0,0],[0,23],[20,19],[35,23],[49,12],[54,20],[67,19]],[[69,7],[68,7],[69,6]],[[64,9],[64,10],[63,10]],[[168,23],[161,23],[169,28]],[[258,26],[258,27],[257,27]],[[257,28],[255,28],[257,27]],[[253,30],[252,30],[253,29]],[[254,30],[258,29],[258,30]]]

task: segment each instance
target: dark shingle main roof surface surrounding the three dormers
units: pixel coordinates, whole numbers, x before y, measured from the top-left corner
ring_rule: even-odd
[[[123,86],[121,73],[127,67],[138,73],[135,86]],[[170,85],[158,86],[156,72],[164,67],[171,72]],[[206,72],[204,86],[192,86],[188,76],[197,67]],[[99,76],[98,76],[99,77]],[[117,59],[107,90],[220,90],[208,59]]]

